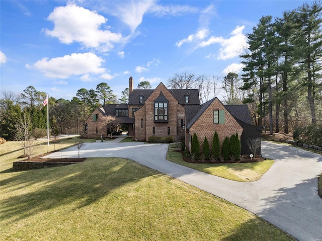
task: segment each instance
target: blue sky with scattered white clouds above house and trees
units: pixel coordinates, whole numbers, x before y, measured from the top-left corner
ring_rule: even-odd
[[[185,71],[222,77],[240,70],[262,16],[305,2],[0,0],[0,91],[70,100],[105,82],[120,98],[129,76],[135,88]]]

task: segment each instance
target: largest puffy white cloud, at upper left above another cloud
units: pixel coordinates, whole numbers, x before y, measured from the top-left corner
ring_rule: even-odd
[[[71,44],[76,41],[88,48],[98,48],[101,51],[110,51],[113,43],[126,42],[120,33],[109,30],[100,30],[107,19],[102,15],[74,4],[65,7],[56,7],[48,17],[54,23],[54,29],[45,29],[45,33],[57,37],[60,42]]]

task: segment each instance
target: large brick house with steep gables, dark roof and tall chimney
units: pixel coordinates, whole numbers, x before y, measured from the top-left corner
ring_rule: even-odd
[[[91,114],[85,124],[87,137],[108,135],[107,116],[115,117],[118,128],[135,139],[172,136],[174,141],[185,140],[189,150],[194,133],[201,145],[205,136],[211,145],[215,131],[221,143],[237,132],[242,154],[250,153],[247,139],[260,137],[261,129],[253,126],[247,105],[223,105],[217,98],[200,105],[198,89],[169,90],[160,83],[155,90],[134,90],[133,85],[130,77],[128,104],[109,104]]]

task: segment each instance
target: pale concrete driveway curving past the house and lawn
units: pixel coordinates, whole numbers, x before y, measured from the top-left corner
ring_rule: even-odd
[[[261,180],[235,182],[166,160],[168,144],[142,142],[86,143],[81,157],[124,157],[170,175],[249,210],[299,240],[322,240],[322,199],[317,195],[317,176],[322,155],[288,145],[262,142],[262,154],[275,164]],[[74,147],[47,157],[77,157]]]

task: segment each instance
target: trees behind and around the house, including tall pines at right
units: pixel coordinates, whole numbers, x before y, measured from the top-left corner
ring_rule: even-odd
[[[289,133],[322,123],[322,19],[320,2],[303,4],[282,17],[263,16],[247,34],[248,47],[240,55],[243,71],[226,76],[196,75],[188,71],[169,77],[169,89],[198,89],[201,103],[224,93],[223,104],[247,104],[254,124],[270,134]],[[137,89],[151,89],[142,81]],[[3,93],[0,100],[0,136],[12,139],[17,120],[28,116],[33,130],[46,128],[42,102],[46,93],[27,87],[22,94]],[[121,98],[106,84],[79,89],[70,101],[49,98],[50,127],[56,133],[81,133],[88,116],[106,104],[127,104],[129,88]],[[313,128],[314,129],[314,128]],[[35,132],[37,132],[35,131]],[[39,134],[40,135],[40,134]]]

